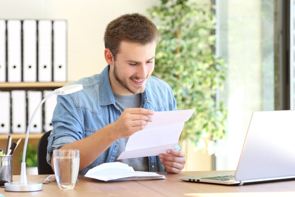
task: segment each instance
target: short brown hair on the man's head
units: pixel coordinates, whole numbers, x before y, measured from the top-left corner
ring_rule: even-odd
[[[156,25],[142,14],[124,14],[106,26],[104,46],[109,48],[114,58],[119,53],[119,45],[124,40],[140,45],[157,43],[159,32]]]

